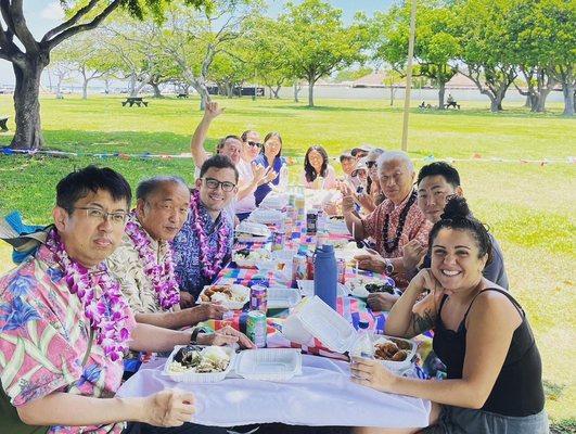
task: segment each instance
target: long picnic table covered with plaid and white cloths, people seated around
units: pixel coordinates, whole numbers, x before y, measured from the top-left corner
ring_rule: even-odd
[[[349,240],[349,235],[331,233],[332,242]],[[270,240],[239,241],[234,250],[269,248]],[[286,248],[297,248],[305,253],[316,245],[316,237],[306,233],[305,225],[299,221]],[[346,269],[346,278],[374,276],[369,271]],[[259,283],[269,288],[294,284],[291,277],[256,268],[239,267],[230,263],[225,267],[216,282],[239,283],[246,286]],[[366,302],[346,294],[340,294],[336,309],[355,328],[359,321],[368,321],[371,330],[382,333],[386,312],[374,312]],[[195,394],[199,409],[194,417],[196,423],[217,426],[231,426],[251,423],[282,422],[287,424],[343,425],[343,426],[382,426],[408,427],[427,425],[431,409],[430,401],[408,396],[384,394],[350,382],[347,356],[325,348],[313,340],[309,346],[291,342],[281,333],[289,309],[268,310],[268,348],[298,348],[303,356],[302,375],[284,383],[247,380],[227,376],[219,383],[175,383],[162,373],[166,359],[152,359],[132,375],[118,391],[118,396],[148,396],[166,387],[178,387]],[[234,310],[225,320],[209,320],[204,326],[218,330],[231,326],[245,332],[247,309]],[[318,357],[324,356],[324,357]],[[410,373],[423,378],[422,370],[415,365]]]

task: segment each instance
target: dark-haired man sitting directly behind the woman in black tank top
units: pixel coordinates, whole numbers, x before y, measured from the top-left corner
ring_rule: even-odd
[[[434,162],[420,169],[418,174],[418,206],[432,225],[440,219],[448,199],[463,195],[458,170],[445,162]],[[508,290],[508,276],[500,245],[488,232],[492,244],[491,261],[484,267],[483,275],[489,281]],[[427,250],[418,242],[409,243],[404,250],[405,268],[418,271],[422,267],[430,268]]]

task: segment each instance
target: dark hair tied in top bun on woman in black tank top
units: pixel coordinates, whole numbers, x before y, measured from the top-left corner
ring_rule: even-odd
[[[430,253],[432,253],[434,239],[438,235],[440,229],[445,228],[470,232],[474,237],[474,240],[476,240],[478,257],[487,254],[488,260],[486,265],[490,264],[492,260],[492,241],[488,234],[488,229],[483,222],[472,216],[464,197],[453,196],[446,203],[440,220],[436,221],[430,231]]]

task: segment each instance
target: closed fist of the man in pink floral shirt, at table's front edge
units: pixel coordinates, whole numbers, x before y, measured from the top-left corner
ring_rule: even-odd
[[[141,399],[139,421],[154,426],[180,426],[195,412],[191,393],[167,390]]]

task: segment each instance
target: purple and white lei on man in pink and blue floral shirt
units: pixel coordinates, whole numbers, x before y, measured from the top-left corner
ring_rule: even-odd
[[[55,229],[50,231],[46,245],[62,267],[69,292],[80,299],[90,328],[95,331],[97,343],[112,361],[121,360],[128,350],[130,332],[126,324],[129,307],[118,282],[108,276],[104,263],[99,264],[99,272],[90,272],[85,266],[71,259]],[[94,286],[102,289],[99,298],[94,294]]]

